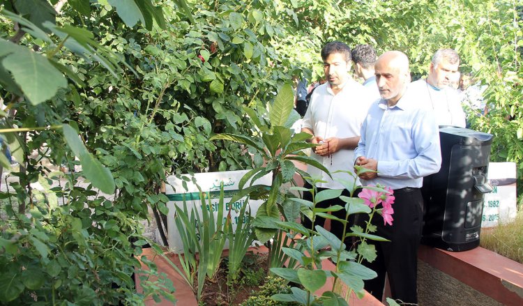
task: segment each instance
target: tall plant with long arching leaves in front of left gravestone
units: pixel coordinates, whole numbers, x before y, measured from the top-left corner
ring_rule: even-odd
[[[301,151],[304,148],[316,146],[305,141],[310,138],[310,135],[307,133],[293,135],[291,132],[290,127],[297,119],[296,112],[292,109],[293,96],[291,86],[289,84],[283,85],[268,111],[268,124],[266,124],[264,118],[259,118],[252,109],[244,108],[245,113],[250,116],[259,130],[257,137],[233,134],[218,134],[211,137],[211,140],[222,139],[239,142],[255,150],[261,156],[261,160],[254,160],[255,169],[250,170],[241,178],[238,183],[238,188],[241,191],[233,197],[232,201],[246,194],[250,194],[251,198],[266,199],[257,211],[254,221],[255,233],[260,243],[267,243],[268,247],[271,248],[271,257],[276,256],[279,259],[277,261],[271,259],[269,262],[279,264],[285,262],[285,254],[280,253],[281,245],[271,247],[272,243],[269,242],[269,239],[277,234],[278,227],[272,221],[265,222],[264,220],[280,220],[280,216],[284,220],[294,220],[293,218],[299,215],[299,209],[296,209],[298,206],[293,204],[292,201],[278,202],[282,184],[293,181],[296,172],[302,176],[307,176],[303,171],[297,169],[292,161],[304,162],[328,172],[323,165]],[[263,163],[266,165],[261,165]],[[245,187],[248,180],[252,179],[251,182],[254,182],[257,178],[266,174],[271,174],[273,178],[269,190],[264,185],[252,185],[252,183]],[[278,238],[276,240],[280,243]],[[278,254],[282,256],[278,256]]]

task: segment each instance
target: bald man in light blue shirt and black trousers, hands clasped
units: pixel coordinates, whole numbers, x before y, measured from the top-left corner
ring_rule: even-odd
[[[385,226],[374,215],[377,234],[390,242],[377,242],[377,259],[366,263],[377,272],[365,281],[365,289],[381,300],[385,275],[392,298],[418,303],[417,251],[423,220],[423,176],[441,166],[439,131],[433,114],[410,95],[409,59],[402,52],[379,56],[375,75],[381,100],[374,103],[363,122],[361,139],[354,151],[355,165],[371,169],[360,174],[363,185],[381,184],[394,190],[394,222]]]

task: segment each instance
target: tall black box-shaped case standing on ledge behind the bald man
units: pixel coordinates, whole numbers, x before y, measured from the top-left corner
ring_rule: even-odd
[[[483,194],[492,135],[467,128],[439,128],[441,169],[423,179],[425,213],[421,242],[449,251],[479,245]]]

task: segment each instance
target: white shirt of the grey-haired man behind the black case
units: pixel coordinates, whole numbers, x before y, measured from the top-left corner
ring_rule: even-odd
[[[446,87],[437,89],[427,83],[426,79],[418,79],[409,84],[409,91],[420,106],[434,112],[438,125],[453,125],[465,127],[465,113],[461,106],[460,95],[455,89]]]

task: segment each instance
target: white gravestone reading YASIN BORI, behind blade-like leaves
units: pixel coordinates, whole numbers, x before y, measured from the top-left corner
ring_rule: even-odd
[[[174,206],[183,208],[183,199],[185,199],[185,204],[187,205],[188,210],[190,211],[193,207],[197,209],[199,216],[202,217],[202,207],[206,209],[211,209],[214,213],[214,216],[218,216],[218,203],[220,201],[220,183],[223,183],[224,190],[224,217],[227,216],[227,213],[231,211],[232,217],[232,227],[233,231],[236,230],[236,224],[238,224],[238,212],[243,206],[243,203],[246,200],[246,197],[238,199],[234,203],[230,203],[234,194],[238,190],[238,182],[249,170],[240,170],[240,171],[222,171],[222,172],[209,172],[209,173],[199,173],[191,176],[190,174],[183,174],[187,178],[195,178],[195,183],[192,183],[192,180],[185,181],[187,189],[183,187],[183,180],[176,178],[176,176],[167,176],[167,184],[165,185],[165,195],[169,198],[167,202],[167,208],[169,208],[169,213],[167,214],[167,227],[169,230],[168,240],[169,240],[169,250],[177,254],[183,252],[183,245],[181,242],[178,229],[174,222]],[[263,176],[252,185],[267,185],[271,186],[271,174]],[[250,180],[245,184],[245,188],[250,185]],[[199,199],[199,190],[198,187],[204,192],[204,197],[206,197],[205,203],[202,203]],[[209,197],[211,198],[211,207],[209,207]],[[252,216],[256,215],[259,206],[263,204],[262,200],[252,200],[249,199],[250,213]],[[204,206],[202,206],[204,205]],[[229,242],[225,244],[224,249],[229,248]]]

